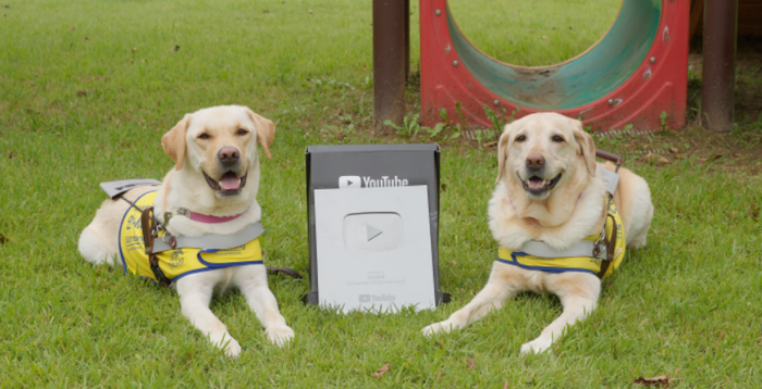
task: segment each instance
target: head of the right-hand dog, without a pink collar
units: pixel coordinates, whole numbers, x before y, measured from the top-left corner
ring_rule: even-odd
[[[595,175],[595,146],[582,123],[557,113],[536,113],[506,125],[499,142],[497,180],[544,200],[580,170]]]

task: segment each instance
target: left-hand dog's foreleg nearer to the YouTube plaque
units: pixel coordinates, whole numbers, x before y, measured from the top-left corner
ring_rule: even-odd
[[[285,346],[294,337],[294,330],[286,325],[285,318],[278,310],[278,301],[267,284],[265,266],[248,265],[236,268],[234,283],[265,327],[268,340],[279,347]]]

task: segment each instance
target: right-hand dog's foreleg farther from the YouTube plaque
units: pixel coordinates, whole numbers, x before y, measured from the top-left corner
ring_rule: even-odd
[[[598,303],[601,281],[598,277],[585,273],[562,273],[551,275],[555,279],[545,280],[548,291],[558,296],[564,312],[542,330],[540,336],[521,346],[521,353],[541,353],[558,340],[567,326],[588,317]]]

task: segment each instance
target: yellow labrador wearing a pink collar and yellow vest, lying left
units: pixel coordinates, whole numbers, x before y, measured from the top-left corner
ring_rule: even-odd
[[[224,240],[249,230],[258,226],[261,216],[256,199],[260,174],[257,142],[271,158],[274,131],[271,121],[246,106],[213,106],[186,114],[161,138],[164,151],[175,161],[174,168],[160,186],[138,187],[123,197],[135,208],[152,205],[155,217],[165,223],[164,234],[189,242],[210,236]],[[168,250],[159,254],[165,263],[155,273],[143,252],[145,246],[137,249],[145,242],[136,231],[142,230],[142,224],[135,208],[122,199],[103,202],[79,237],[85,260],[122,265],[125,273],[157,283],[163,279],[176,287],[183,315],[228,356],[237,356],[241,346],[209,310],[214,290],[237,287],[272,343],[283,346],[294,337],[268,288],[258,238],[228,250]]]

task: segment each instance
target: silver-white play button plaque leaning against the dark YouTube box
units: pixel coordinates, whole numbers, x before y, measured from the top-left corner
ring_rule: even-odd
[[[432,310],[426,186],[315,190],[320,305]]]

